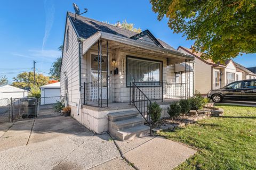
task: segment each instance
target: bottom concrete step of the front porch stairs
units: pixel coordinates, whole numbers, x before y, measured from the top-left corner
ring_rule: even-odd
[[[140,125],[140,126],[134,126],[129,129],[123,129],[117,131],[116,137],[119,140],[132,140],[135,137],[141,137],[142,135],[145,135],[146,133],[149,133],[149,126],[146,125]]]

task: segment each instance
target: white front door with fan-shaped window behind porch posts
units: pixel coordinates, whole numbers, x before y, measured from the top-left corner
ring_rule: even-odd
[[[98,81],[98,55],[91,55],[91,82]],[[99,65],[100,67],[100,65]],[[99,75],[100,76],[100,75]],[[100,83],[101,81],[101,83]],[[101,56],[101,77],[99,78],[99,82],[97,82],[97,87],[92,89],[95,93],[95,99],[98,99],[98,95],[101,96],[102,99],[107,99],[107,56]],[[100,85],[101,84],[101,85]],[[100,87],[100,91],[98,91],[98,86]]]

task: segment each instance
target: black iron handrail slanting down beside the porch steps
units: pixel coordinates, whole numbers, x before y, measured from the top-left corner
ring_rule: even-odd
[[[152,135],[152,128],[150,122],[149,106],[151,106],[151,100],[141,91],[141,89],[134,83],[130,84],[130,101],[137,108],[141,116],[146,120],[150,127],[150,134]]]

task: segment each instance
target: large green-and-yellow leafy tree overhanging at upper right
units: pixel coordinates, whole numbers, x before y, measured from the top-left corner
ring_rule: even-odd
[[[175,33],[195,40],[194,51],[221,62],[256,53],[256,1],[150,0],[158,20],[166,16]]]

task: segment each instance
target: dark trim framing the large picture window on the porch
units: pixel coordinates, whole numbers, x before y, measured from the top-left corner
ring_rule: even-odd
[[[152,59],[149,59],[149,58],[143,58],[143,57],[137,57],[137,56],[131,56],[131,55],[126,55],[126,60],[125,60],[125,71],[126,71],[126,73],[125,73],[125,76],[126,76],[126,87],[130,87],[130,85],[129,84],[127,84],[127,82],[128,82],[128,74],[127,74],[127,68],[128,68],[128,62],[127,62],[127,60],[128,60],[128,58],[134,58],[134,59],[138,59],[138,60],[144,60],[144,61],[151,61],[151,62],[158,62],[158,63],[160,63],[160,78],[159,78],[159,83],[161,83],[161,82],[163,82],[163,61],[161,61],[161,60],[152,60]],[[147,86],[141,86],[141,85],[138,85],[138,87],[147,87]]]

